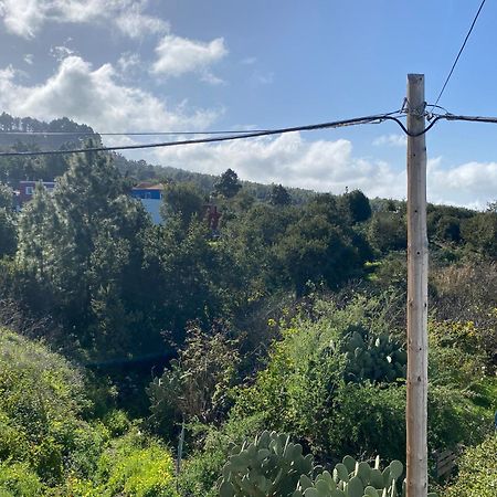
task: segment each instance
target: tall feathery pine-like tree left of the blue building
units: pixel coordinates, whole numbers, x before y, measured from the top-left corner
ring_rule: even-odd
[[[108,159],[89,152],[72,162],[52,195],[38,188],[23,210],[18,267],[53,296],[47,313],[75,343],[107,358],[129,350],[133,339],[136,351],[157,347],[147,345],[140,320],[148,299],[140,233],[149,224]]]

